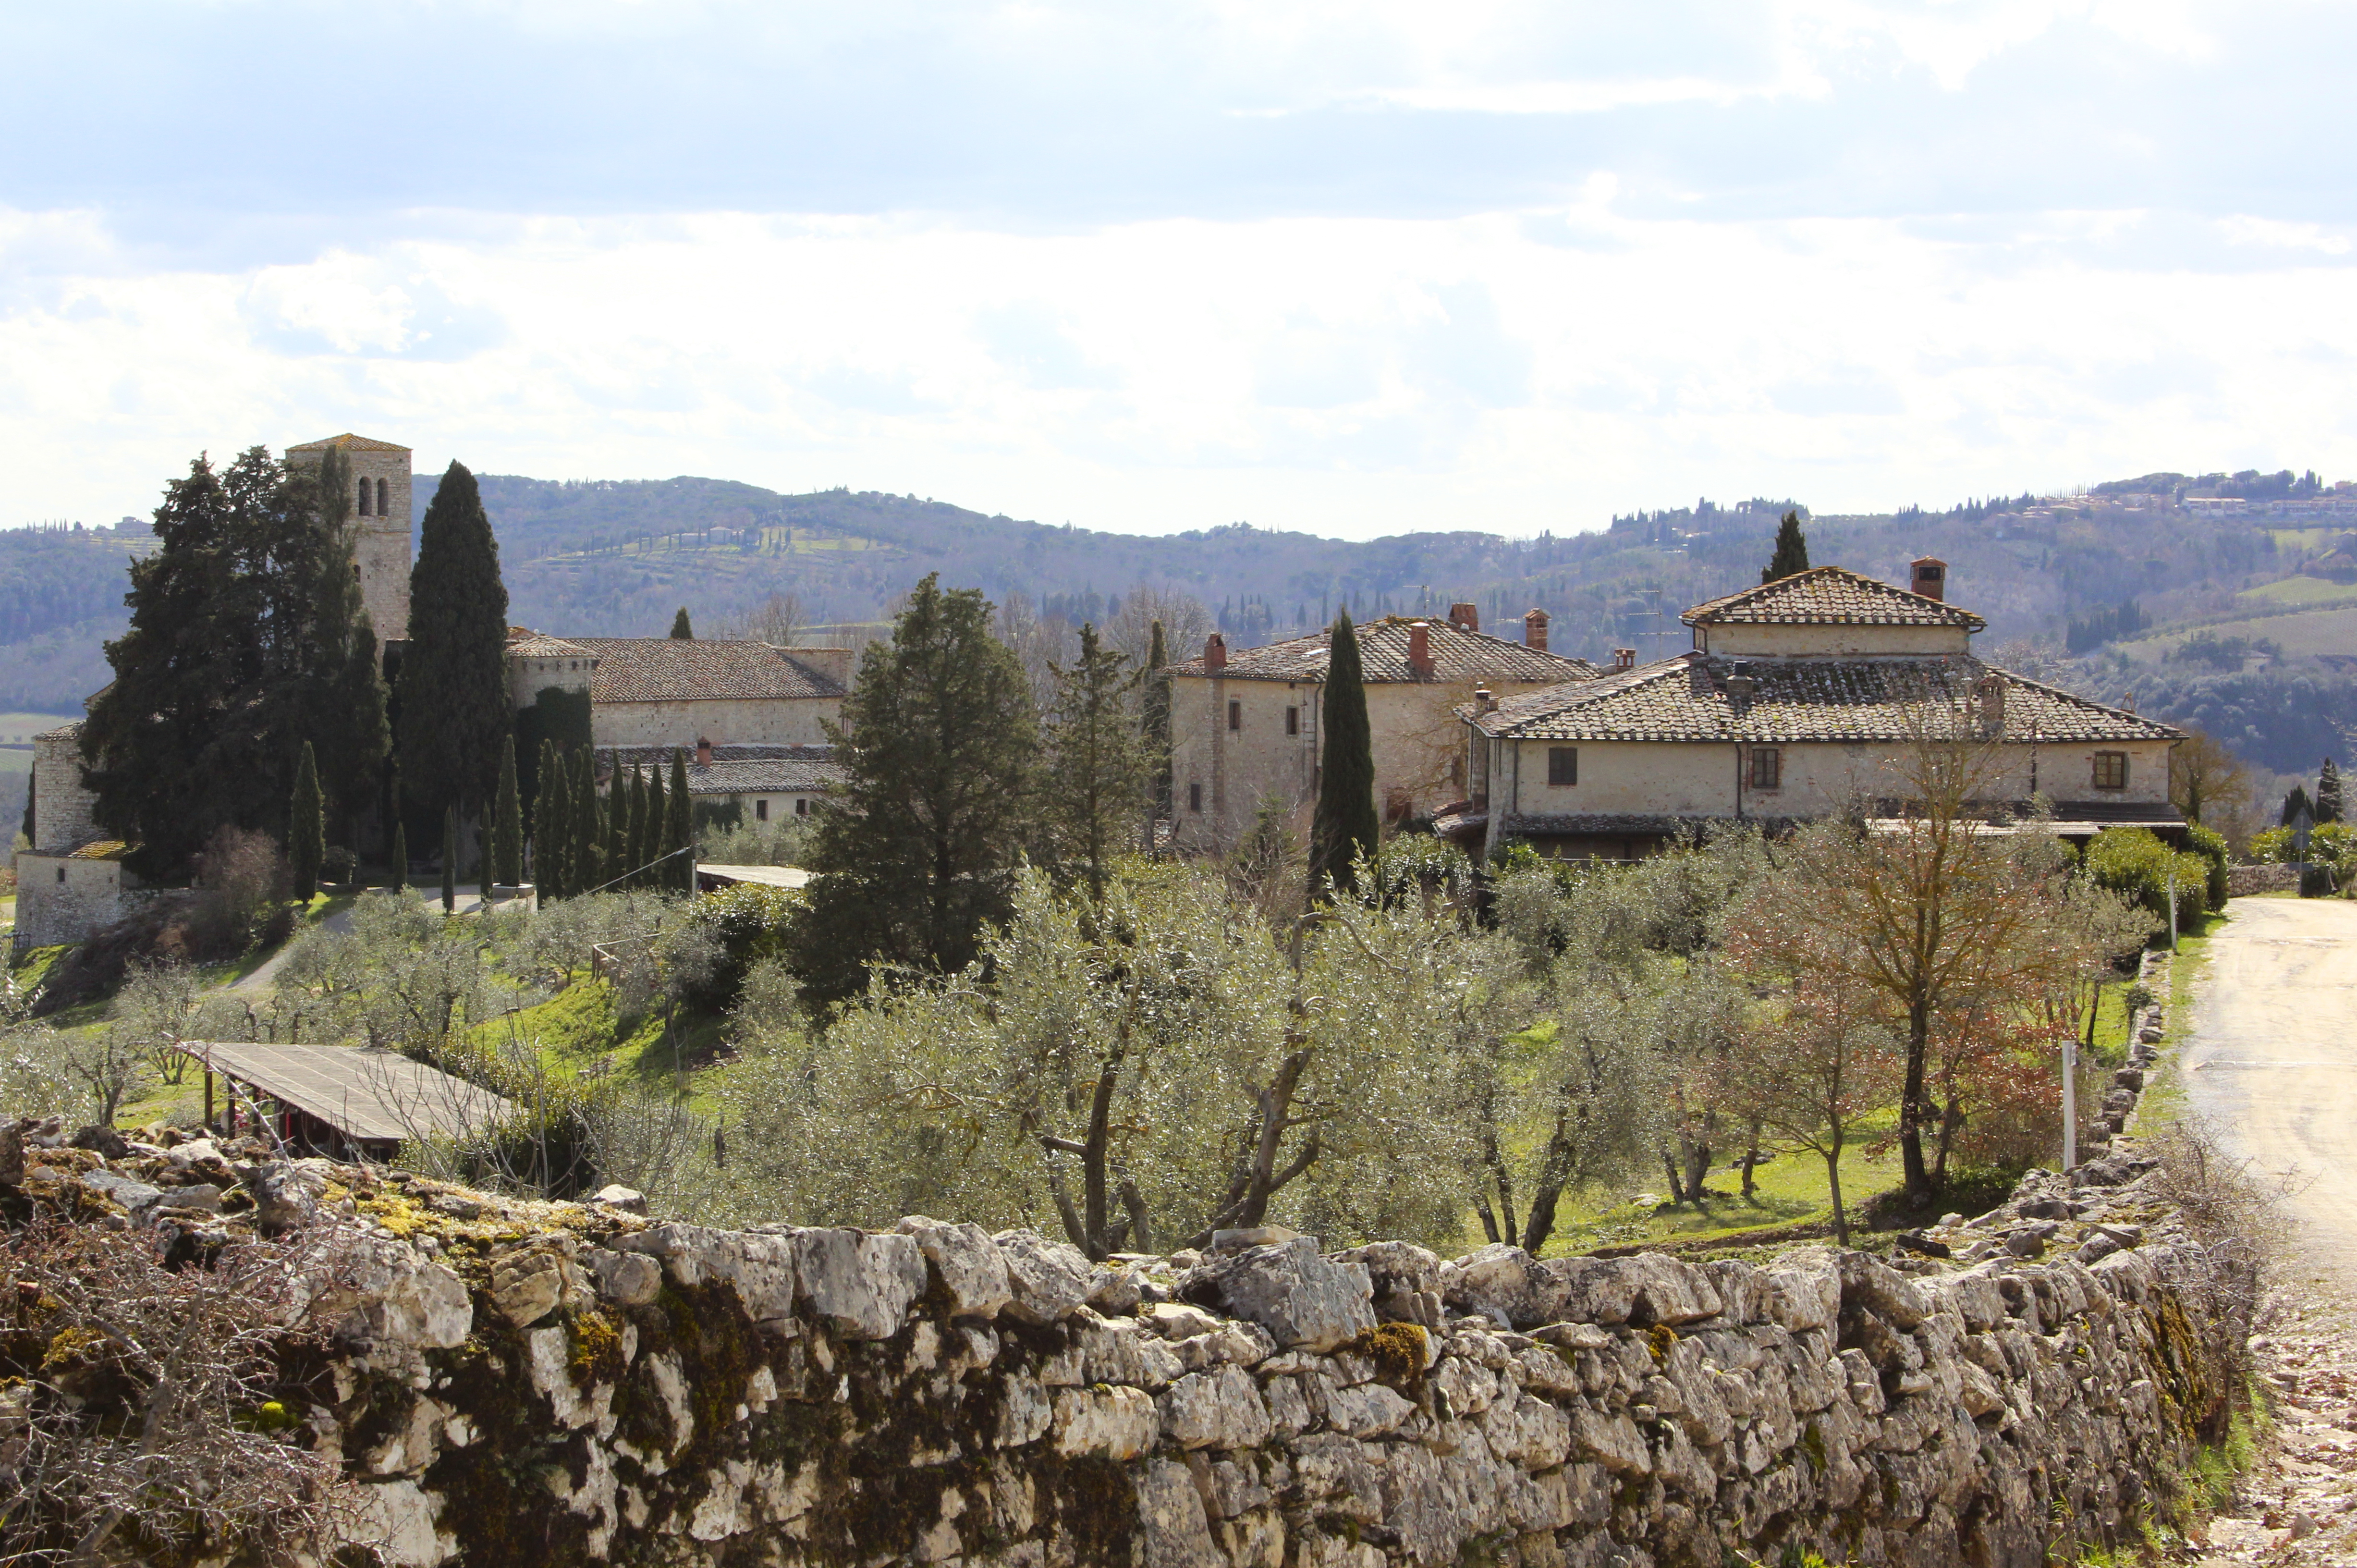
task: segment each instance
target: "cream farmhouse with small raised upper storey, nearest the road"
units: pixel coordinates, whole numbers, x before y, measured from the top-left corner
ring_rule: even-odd
[[[2003,747],[1992,813],[2046,797],[2065,837],[2183,839],[2168,750],[2185,733],[1980,663],[1987,622],[1945,589],[1935,559],[1912,589],[1817,566],[1690,608],[1690,653],[1483,691],[1459,712],[1471,804],[1435,825],[1468,849],[1629,858],[1709,823],[1874,811],[1904,747],[1961,712]]]

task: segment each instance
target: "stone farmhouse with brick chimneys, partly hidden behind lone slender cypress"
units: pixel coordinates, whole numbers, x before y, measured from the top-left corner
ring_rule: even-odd
[[[1263,804],[1296,809],[1318,797],[1325,679],[1332,632],[1228,653],[1214,632],[1202,658],[1171,681],[1171,842],[1223,851]],[[1549,691],[1596,674],[1546,651],[1546,613],[1523,618],[1523,641],[1480,630],[1471,604],[1447,620],[1386,618],[1358,627],[1374,740],[1374,795],[1388,823],[1424,818],[1466,792],[1454,710],[1475,689]]]

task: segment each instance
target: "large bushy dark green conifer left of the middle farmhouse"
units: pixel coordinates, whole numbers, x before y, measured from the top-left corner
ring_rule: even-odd
[[[1030,679],[990,632],[978,589],[924,578],[870,644],[827,724],[844,764],[811,832],[811,898],[794,922],[801,993],[832,1002],[877,960],[962,969],[1004,920],[1030,828]]]

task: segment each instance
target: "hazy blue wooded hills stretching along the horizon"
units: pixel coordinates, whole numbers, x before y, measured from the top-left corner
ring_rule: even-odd
[[[1914,556],[1940,556],[1949,597],[1989,618],[1987,646],[2044,644],[2058,679],[2140,691],[2145,712],[2223,729],[2267,766],[2312,766],[2296,759],[2357,724],[2357,672],[2338,670],[2357,655],[2357,488],[2289,469],[2145,474],[1945,512],[1810,516],[1761,498],[1615,516],[1596,533],[1367,542],[1242,523],[1138,538],[726,479],[481,486],[511,618],[559,634],[660,634],[681,604],[709,632],[775,592],[797,594],[808,622],[872,622],[938,571],[1075,622],[1150,585],[1200,599],[1242,646],[1308,632],[1343,604],[1365,618],[1468,599],[1508,634],[1501,622],[1539,606],[1553,646],[1586,658],[1688,646],[1678,613],[1756,582],[1777,519],[1798,509],[1815,561],[1904,582]],[[429,498],[431,479],[420,514]],[[123,627],[123,564],[148,547],[137,523],[0,533],[0,707],[71,712],[108,679],[99,644]]]

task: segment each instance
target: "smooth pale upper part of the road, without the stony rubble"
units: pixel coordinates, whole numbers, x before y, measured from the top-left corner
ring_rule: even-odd
[[[2171,1028],[2194,1113],[2305,1184],[2300,1273],[2357,1294],[2357,903],[2237,898]]]

